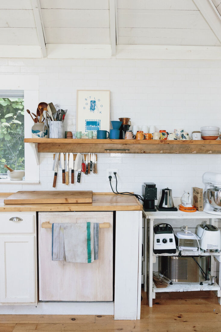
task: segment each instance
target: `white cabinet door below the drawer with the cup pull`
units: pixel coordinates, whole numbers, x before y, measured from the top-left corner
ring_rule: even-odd
[[[35,237],[0,236],[0,302],[35,302]]]

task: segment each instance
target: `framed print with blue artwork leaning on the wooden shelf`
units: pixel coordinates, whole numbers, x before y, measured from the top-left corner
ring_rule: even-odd
[[[76,130],[110,129],[110,90],[77,90]]]

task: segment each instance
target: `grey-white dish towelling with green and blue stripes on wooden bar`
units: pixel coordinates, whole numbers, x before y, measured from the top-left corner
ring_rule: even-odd
[[[99,223],[53,223],[52,260],[92,263],[98,259]]]

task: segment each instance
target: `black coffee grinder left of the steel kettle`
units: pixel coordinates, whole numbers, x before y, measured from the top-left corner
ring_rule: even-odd
[[[156,211],[155,200],[157,199],[157,188],[153,182],[145,182],[142,186],[144,211]]]

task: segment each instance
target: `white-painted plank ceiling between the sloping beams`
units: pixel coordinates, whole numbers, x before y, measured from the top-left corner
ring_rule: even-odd
[[[208,1],[221,13],[221,0]],[[221,45],[193,0],[115,4],[116,44]],[[40,7],[46,44],[111,43],[109,0],[40,0]],[[32,0],[0,0],[0,45],[39,45]]]

